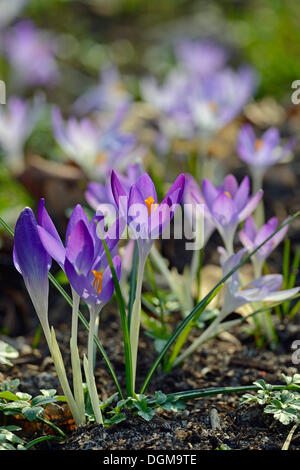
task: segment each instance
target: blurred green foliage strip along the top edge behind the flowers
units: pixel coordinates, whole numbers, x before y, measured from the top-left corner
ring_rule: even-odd
[[[186,30],[190,24],[195,34],[199,18],[199,36],[211,34],[221,42],[225,39],[241,49],[241,58],[257,69],[259,96],[287,99],[292,81],[300,78],[297,0],[31,0],[26,14],[41,27],[67,33],[64,39],[69,45],[69,59],[92,76],[109,60],[143,72],[147,46],[151,50],[153,37],[157,40],[156,32],[153,36],[151,31],[163,32],[165,27],[169,31],[173,22],[174,37],[184,23]],[[211,32],[204,30],[206,17],[208,24],[214,15],[215,27]],[[218,38],[220,21],[223,27]],[[170,45],[172,38],[167,43]]]

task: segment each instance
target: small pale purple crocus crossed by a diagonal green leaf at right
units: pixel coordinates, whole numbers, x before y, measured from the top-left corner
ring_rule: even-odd
[[[249,251],[257,248],[266,238],[275,232],[278,226],[277,217],[272,217],[268,222],[263,225],[259,230],[255,223],[254,217],[250,215],[245,221],[243,230],[240,231],[239,236],[244,247]],[[279,245],[284,239],[288,231],[288,225],[283,227],[276,235],[274,235],[267,243],[265,243],[251,258],[255,277],[261,275],[263,264],[269,254]]]

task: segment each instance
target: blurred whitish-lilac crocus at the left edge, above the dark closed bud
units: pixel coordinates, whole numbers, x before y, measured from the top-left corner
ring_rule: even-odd
[[[0,106],[0,147],[7,166],[15,172],[20,172],[24,167],[24,145],[43,107],[41,95],[36,95],[32,104],[11,97],[6,107]]]

